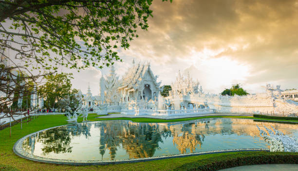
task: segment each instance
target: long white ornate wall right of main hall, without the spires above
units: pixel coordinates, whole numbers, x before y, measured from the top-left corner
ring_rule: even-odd
[[[210,109],[216,109],[218,113],[251,113],[251,114],[298,114],[298,103],[290,100],[273,98],[266,94],[249,96],[208,96],[208,95],[189,95],[171,96],[172,109],[188,106],[190,103],[194,107],[203,104]]]

